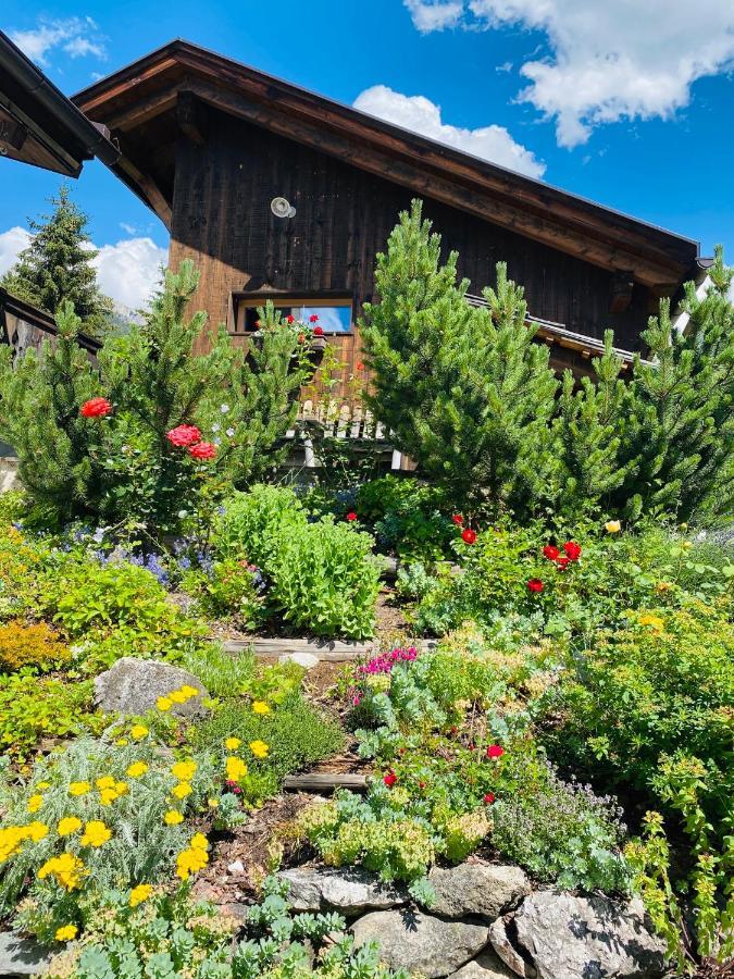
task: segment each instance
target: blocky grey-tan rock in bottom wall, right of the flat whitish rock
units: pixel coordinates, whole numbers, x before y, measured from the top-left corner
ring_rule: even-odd
[[[434,867],[428,879],[436,892],[431,913],[445,918],[483,915],[494,920],[531,892],[520,867],[500,864],[460,864],[448,870]]]

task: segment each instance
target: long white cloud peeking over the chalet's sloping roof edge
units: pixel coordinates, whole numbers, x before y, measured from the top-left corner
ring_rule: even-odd
[[[440,107],[424,96],[406,96],[386,85],[375,85],[357,97],[354,108],[518,173],[532,177],[542,177],[545,173],[545,164],[531,150],[515,142],[502,126],[478,129],[451,126],[441,121]]]

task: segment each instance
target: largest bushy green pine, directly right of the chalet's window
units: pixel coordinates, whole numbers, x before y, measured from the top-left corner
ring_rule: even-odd
[[[458,256],[440,264],[440,237],[420,201],[377,256],[381,301],[364,307],[366,400],[398,449],[440,479],[457,505],[532,510],[547,491],[556,379],[533,344],[523,290],[497,267],[486,309],[465,298]]]

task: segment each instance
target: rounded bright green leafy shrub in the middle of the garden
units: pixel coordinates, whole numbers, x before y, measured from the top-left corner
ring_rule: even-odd
[[[315,635],[372,635],[380,572],[372,537],[328,518],[293,526],[270,569],[269,602],[286,622]]]

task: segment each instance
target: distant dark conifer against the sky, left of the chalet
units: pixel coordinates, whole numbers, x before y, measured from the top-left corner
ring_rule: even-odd
[[[52,314],[72,302],[82,329],[100,335],[109,326],[112,300],[97,285],[91,262],[98,252],[86,233],[87,215],[71,200],[66,184],[50,203],[52,213],[29,219],[34,237],[0,285]]]

